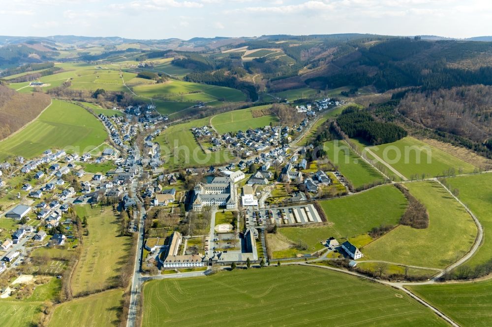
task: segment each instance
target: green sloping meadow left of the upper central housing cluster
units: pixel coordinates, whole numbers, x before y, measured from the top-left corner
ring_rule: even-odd
[[[191,128],[209,125],[209,119],[197,119],[191,122],[172,125],[160,136],[155,138],[161,146],[162,156],[165,159],[164,167],[177,169],[189,166],[207,166],[230,162],[232,156],[225,155],[225,150],[205,154],[196,142]]]

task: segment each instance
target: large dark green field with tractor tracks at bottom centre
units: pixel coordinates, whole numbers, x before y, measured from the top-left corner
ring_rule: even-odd
[[[146,283],[142,326],[176,321],[183,326],[445,326],[398,290],[323,268],[287,266]]]

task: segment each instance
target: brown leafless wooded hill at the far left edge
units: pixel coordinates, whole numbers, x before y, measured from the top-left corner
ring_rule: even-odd
[[[50,101],[50,96],[45,93],[20,94],[0,85],[0,139],[36,118]]]

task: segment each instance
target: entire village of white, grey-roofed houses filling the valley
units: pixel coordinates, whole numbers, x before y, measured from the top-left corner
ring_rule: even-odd
[[[98,155],[84,153],[79,157],[49,149],[28,162],[19,157],[12,164],[3,163],[5,174],[11,178],[24,175],[26,182],[17,193],[19,204],[4,214],[20,225],[1,240],[0,272],[22,264],[29,258],[30,248],[75,246],[77,226],[71,208],[103,202],[116,204],[120,211],[145,213],[144,272],[205,269],[246,261],[265,263],[267,230],[325,222],[323,211],[310,201],[322,196],[322,189],[335,185],[346,189],[340,184],[338,171],[327,173],[309,167],[306,152],[312,145],[290,146],[295,143],[292,137],[302,136],[312,124],[316,114],[311,109],[326,109],[331,105],[329,100],[314,102],[314,108],[297,107],[307,117],[292,127],[265,126],[235,135],[217,135],[208,126],[192,128],[197,142],[204,137],[211,141],[210,151],[216,147],[239,150],[242,160],[225,166],[163,170],[165,159],[161,158],[159,143],[153,140],[167,126],[154,127],[159,120],[149,119],[151,106],[143,112],[139,107],[127,108],[126,117],[99,114],[112,146]],[[133,122],[136,116],[141,116],[138,123]],[[140,128],[152,130],[144,137],[141,150],[130,146]],[[87,172],[84,166],[88,164],[108,168]],[[277,189],[289,192],[278,200],[274,194]],[[190,220],[201,225],[192,225]],[[166,228],[160,228],[161,224]],[[136,220],[128,230],[139,232]],[[352,259],[362,256],[350,243],[339,246],[330,237],[326,235],[325,244],[330,251],[338,248]]]

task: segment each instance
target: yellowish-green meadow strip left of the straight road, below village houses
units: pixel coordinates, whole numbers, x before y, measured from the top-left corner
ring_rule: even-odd
[[[84,236],[82,254],[72,275],[74,295],[104,290],[118,283],[119,271],[128,257],[131,238],[120,236],[119,217],[111,208],[104,212],[89,205],[77,206],[79,217],[87,217],[89,235]]]

